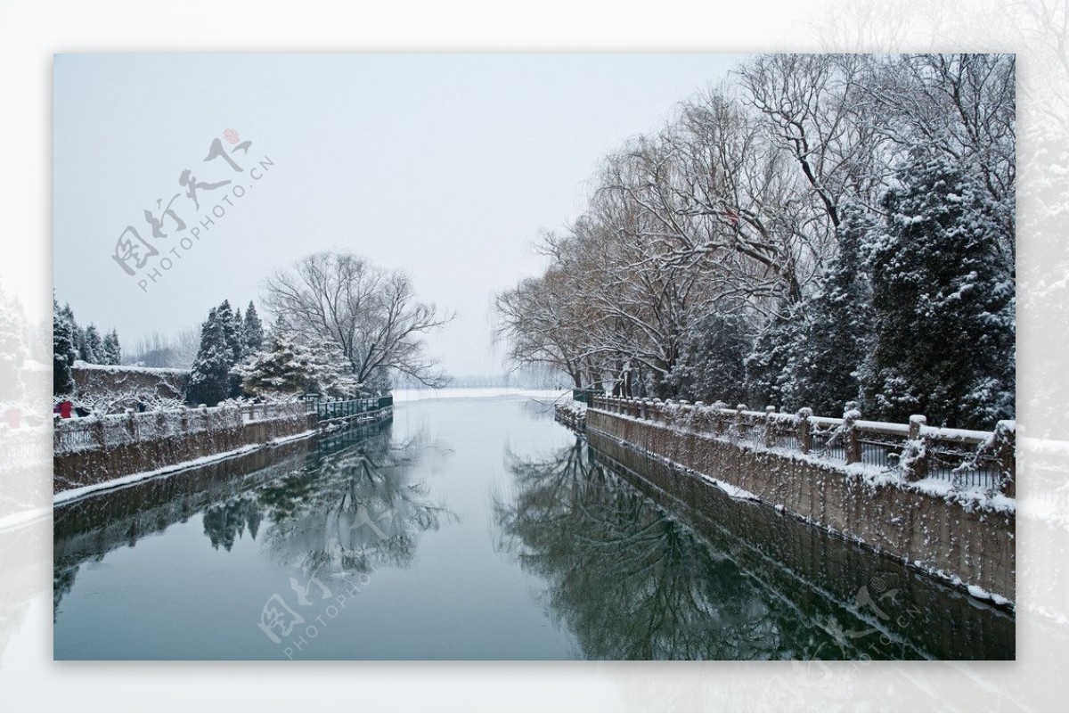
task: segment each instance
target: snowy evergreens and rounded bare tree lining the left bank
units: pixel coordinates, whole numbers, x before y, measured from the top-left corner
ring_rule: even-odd
[[[227,399],[292,399],[304,393],[360,397],[389,390],[396,374],[431,387],[449,382],[427,354],[423,338],[453,315],[417,300],[402,273],[381,269],[350,252],[319,252],[268,278],[262,305],[269,329],[253,302],[243,314],[223,300],[200,326],[192,364],[164,366],[190,368],[187,403],[214,406]],[[73,314],[58,302],[55,313],[53,393],[88,403],[87,395],[74,393],[71,377],[78,356]],[[175,354],[159,348],[154,353]],[[148,392],[112,397],[93,404],[174,406],[174,400]]]

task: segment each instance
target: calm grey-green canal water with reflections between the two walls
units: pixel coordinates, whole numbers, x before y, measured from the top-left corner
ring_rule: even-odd
[[[1011,658],[1010,616],[701,513],[520,398],[398,407],[56,510],[60,659]]]

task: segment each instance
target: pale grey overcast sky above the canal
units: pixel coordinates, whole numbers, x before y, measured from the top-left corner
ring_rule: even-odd
[[[456,311],[429,340],[447,370],[500,373],[493,295],[539,271],[540,231],[583,209],[602,156],[659,130],[740,59],[57,56],[57,295],[80,324],[117,327],[130,346],[199,324],[223,298],[244,310],[274,270],[347,249],[406,270],[421,299]],[[243,172],[203,160],[215,139]],[[245,141],[247,153],[235,149]],[[260,161],[273,166],[253,172]],[[198,211],[179,183],[186,169],[199,183],[231,184],[198,190]],[[158,216],[157,199],[166,206],[175,193],[187,228],[166,218],[168,237],[154,238],[144,211]],[[208,217],[215,223],[200,227]],[[112,258],[127,226],[159,250],[142,270],[130,265],[135,276]],[[183,248],[193,228],[200,238]]]

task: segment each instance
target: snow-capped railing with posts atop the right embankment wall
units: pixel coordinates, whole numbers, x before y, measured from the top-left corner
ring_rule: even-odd
[[[1016,423],[1000,421],[994,432],[929,426],[923,416],[909,424],[868,421],[850,408],[841,418],[734,408],[723,402],[624,399],[595,395],[592,408],[678,429],[710,433],[765,449],[786,449],[847,464],[894,469],[910,481],[934,479],[1014,495]]]

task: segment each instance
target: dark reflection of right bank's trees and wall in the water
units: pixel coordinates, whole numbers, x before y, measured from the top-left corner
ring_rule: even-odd
[[[638,459],[641,476],[584,438],[513,456],[517,496],[498,505],[585,656],[1013,657],[1006,612],[714,486],[677,498],[648,480],[670,469]]]

